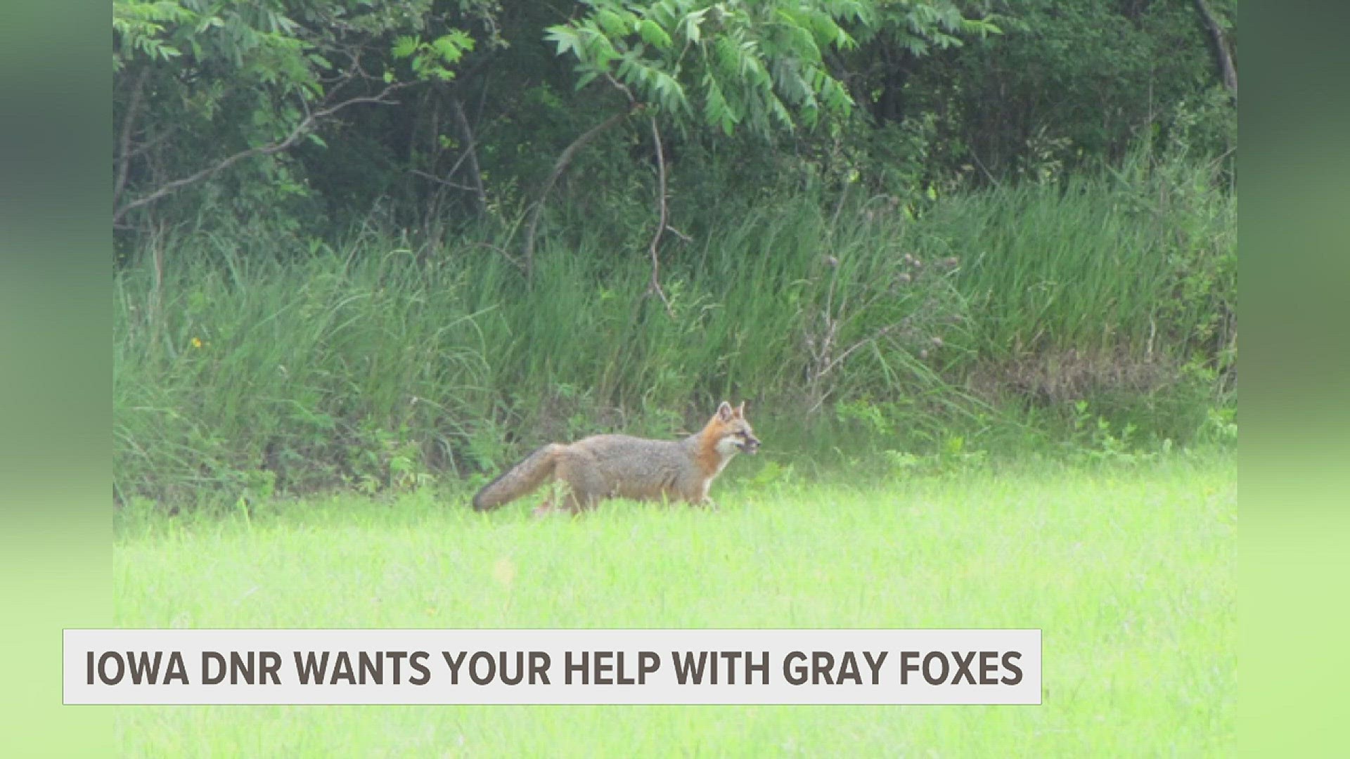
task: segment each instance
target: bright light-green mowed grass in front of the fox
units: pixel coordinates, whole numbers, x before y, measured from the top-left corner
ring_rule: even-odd
[[[1226,756],[1237,463],[753,485],[531,519],[467,494],[122,515],[124,627],[1033,627],[1041,706],[134,706],[127,756]],[[844,686],[846,687],[846,686]]]

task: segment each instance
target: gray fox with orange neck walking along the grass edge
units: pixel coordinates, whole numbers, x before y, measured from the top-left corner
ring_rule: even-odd
[[[549,443],[508,469],[474,496],[485,512],[526,496],[547,481],[566,482],[564,509],[578,513],[605,498],[683,500],[713,505],[707,488],[732,456],[759,451],[745,420],[745,404],[722,401],[703,429],[683,440],[647,440],[628,435],[594,435],[570,444]],[[552,498],[535,511],[555,508]]]

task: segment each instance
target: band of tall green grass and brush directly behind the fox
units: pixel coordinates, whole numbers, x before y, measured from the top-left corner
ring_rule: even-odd
[[[806,188],[667,235],[662,293],[644,244],[566,208],[528,282],[518,226],[170,235],[115,281],[116,494],[474,478],[721,398],[778,466],[1185,443],[1231,428],[1235,204],[1214,165],[1146,158],[922,203]]]

